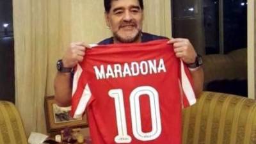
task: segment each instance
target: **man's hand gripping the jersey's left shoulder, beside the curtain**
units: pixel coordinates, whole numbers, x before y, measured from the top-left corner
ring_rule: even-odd
[[[71,43],[62,58],[63,67],[73,68],[77,63],[83,61],[86,48],[91,47],[84,42]]]

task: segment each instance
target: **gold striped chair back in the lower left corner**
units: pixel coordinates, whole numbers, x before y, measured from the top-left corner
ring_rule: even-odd
[[[0,100],[0,144],[28,144],[17,108],[3,100]]]

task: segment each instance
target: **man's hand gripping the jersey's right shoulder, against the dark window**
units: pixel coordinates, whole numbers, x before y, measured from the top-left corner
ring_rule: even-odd
[[[173,44],[177,58],[181,58],[184,63],[195,63],[196,52],[193,45],[186,38],[171,38],[168,44]]]

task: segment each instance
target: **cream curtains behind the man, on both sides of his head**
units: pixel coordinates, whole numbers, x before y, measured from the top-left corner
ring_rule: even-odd
[[[170,37],[170,1],[145,1],[144,31]],[[26,134],[46,133],[44,97],[54,95],[56,61],[70,42],[111,36],[103,1],[13,0],[15,102]]]

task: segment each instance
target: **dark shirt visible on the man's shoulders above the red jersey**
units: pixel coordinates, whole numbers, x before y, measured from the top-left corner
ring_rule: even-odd
[[[168,39],[164,36],[158,36],[158,35],[152,35],[150,33],[141,33],[141,42],[150,42],[152,40],[161,40],[161,39]],[[113,44],[113,37],[111,38],[106,38],[105,40],[102,40],[99,42],[99,45],[107,45],[107,44]]]

